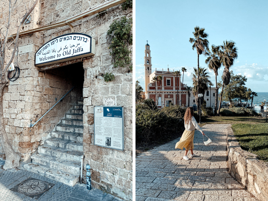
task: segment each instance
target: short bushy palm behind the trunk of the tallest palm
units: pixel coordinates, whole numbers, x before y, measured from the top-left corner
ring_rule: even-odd
[[[202,102],[204,99],[204,94],[208,90],[208,86],[210,84],[212,84],[212,82],[210,80],[208,80],[210,78],[210,76],[208,75],[209,72],[207,72],[206,68],[201,67],[199,70],[200,70],[200,72],[199,72],[199,93],[203,94],[203,97],[200,99]],[[194,68],[194,73],[192,73],[192,80],[193,80],[194,88],[192,89],[192,91],[193,91],[193,94],[195,96],[196,103],[199,102],[198,92],[197,92],[197,76],[198,76],[198,70],[197,70],[197,68]],[[199,104],[201,104],[201,103],[199,103]]]

